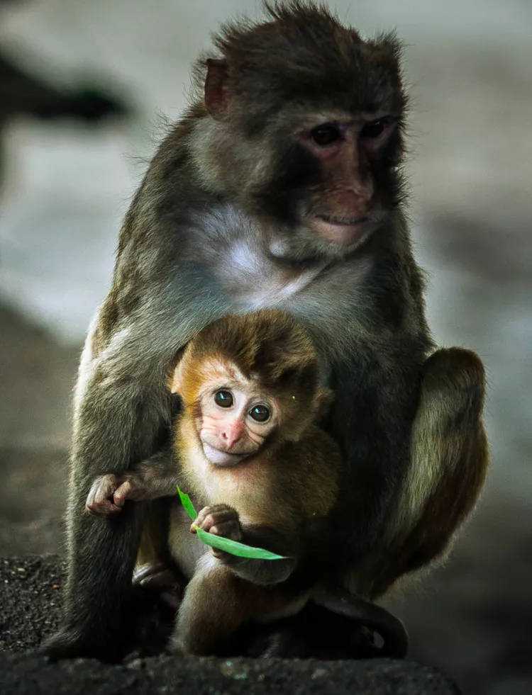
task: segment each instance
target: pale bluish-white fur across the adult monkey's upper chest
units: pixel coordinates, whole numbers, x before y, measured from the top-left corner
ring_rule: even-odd
[[[197,224],[204,244],[192,247],[187,257],[206,269],[228,310],[287,310],[301,318],[318,349],[328,356],[330,341],[325,338],[326,344],[319,344],[323,336],[335,336],[333,349],[341,355],[352,345],[353,335],[363,334],[368,309],[363,286],[370,257],[354,254],[336,261],[290,263],[282,257],[282,237],[267,242],[265,231],[233,208],[204,215]]]

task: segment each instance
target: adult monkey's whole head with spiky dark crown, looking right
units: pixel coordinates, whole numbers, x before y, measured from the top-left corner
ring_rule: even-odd
[[[311,3],[266,9],[270,22],[223,28],[222,57],[196,69],[216,121],[206,179],[270,220],[274,256],[342,256],[401,197],[399,43],[362,40]]]

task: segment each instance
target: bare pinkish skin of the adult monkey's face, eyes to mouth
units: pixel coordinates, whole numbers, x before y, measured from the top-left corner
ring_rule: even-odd
[[[324,242],[352,246],[379,224],[382,211],[375,190],[372,160],[387,144],[397,118],[366,121],[333,119],[296,133],[320,160],[326,190],[306,215],[306,226]]]

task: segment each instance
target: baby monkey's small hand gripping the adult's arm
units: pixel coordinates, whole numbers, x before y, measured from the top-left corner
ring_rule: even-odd
[[[94,516],[118,514],[126,499],[140,502],[146,495],[147,488],[140,475],[101,475],[92,483],[85,509]]]

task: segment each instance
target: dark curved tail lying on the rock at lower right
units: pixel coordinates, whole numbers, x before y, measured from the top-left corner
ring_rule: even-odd
[[[372,604],[367,599],[353,596],[345,589],[330,584],[318,584],[311,593],[311,599],[318,606],[340,616],[352,618],[379,634],[384,641],[381,647],[375,645],[369,656],[404,659],[409,649],[409,635],[404,623],[382,606]]]

